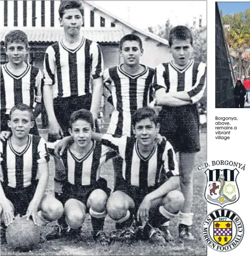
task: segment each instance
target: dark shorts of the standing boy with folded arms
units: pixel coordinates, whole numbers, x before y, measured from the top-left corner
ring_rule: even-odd
[[[200,117],[197,106],[164,106],[159,113],[160,134],[174,147],[175,152],[194,153],[200,146]]]

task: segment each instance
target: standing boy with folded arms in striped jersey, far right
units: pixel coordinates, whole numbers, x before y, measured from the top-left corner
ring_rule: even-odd
[[[181,189],[185,197],[180,213],[179,233],[182,239],[193,240],[189,227],[193,224],[193,168],[200,151],[199,115],[196,103],[206,88],[206,64],[191,59],[193,36],[185,26],[170,31],[169,45],[173,60],[156,67],[154,88],[161,135],[180,154]]]

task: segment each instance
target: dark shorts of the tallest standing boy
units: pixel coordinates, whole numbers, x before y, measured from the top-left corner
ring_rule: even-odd
[[[66,98],[55,98],[54,99],[54,111],[56,120],[59,123],[60,127],[63,130],[64,136],[69,136],[68,128],[69,128],[69,118],[70,115],[74,111],[78,111],[80,109],[87,109],[90,110],[91,108],[91,102],[92,102],[92,95],[91,93],[87,93],[83,96],[71,96]],[[95,122],[96,128],[97,122]],[[97,129],[97,132],[99,130]],[[57,139],[52,135],[48,135],[48,141],[54,142]]]

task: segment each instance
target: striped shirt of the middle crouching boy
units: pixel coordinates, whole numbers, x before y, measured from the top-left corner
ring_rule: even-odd
[[[54,154],[53,149],[57,142],[48,143],[49,153]],[[81,186],[93,185],[100,178],[100,167],[115,155],[110,148],[101,145],[100,141],[93,141],[90,151],[80,159],[70,151],[69,147],[61,156],[67,182]]]

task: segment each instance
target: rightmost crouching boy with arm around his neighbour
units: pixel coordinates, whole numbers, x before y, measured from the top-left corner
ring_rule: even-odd
[[[94,139],[101,140],[102,145],[119,153],[124,160],[119,170],[121,178],[116,180],[114,192],[107,201],[107,213],[118,224],[118,230],[110,236],[123,242],[133,241],[138,220],[148,222],[144,227],[146,238],[165,244],[173,239],[168,229],[169,220],[178,214],[184,202],[177,190],[179,173],[175,152],[165,139],[156,144],[159,124],[153,109],[138,109],[133,114],[132,129],[136,138],[93,134]],[[70,138],[63,139],[67,140]],[[62,143],[56,150],[61,146]],[[64,148],[65,145],[60,152]]]

